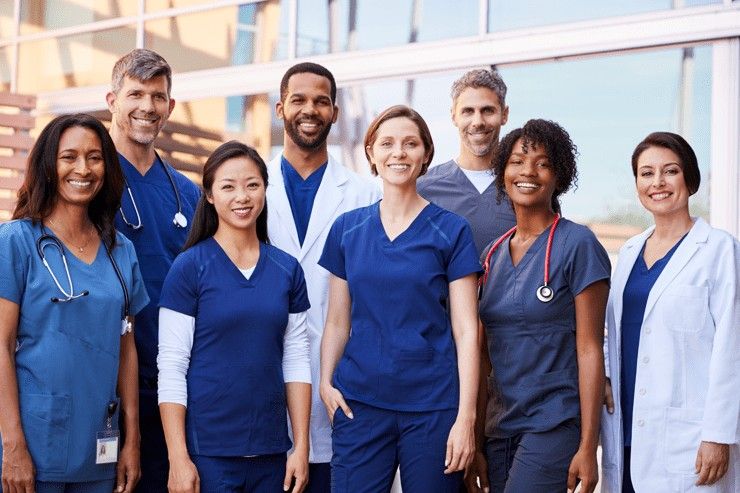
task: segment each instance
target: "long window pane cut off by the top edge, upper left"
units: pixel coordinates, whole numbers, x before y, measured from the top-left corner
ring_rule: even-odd
[[[21,0],[21,34],[136,15],[137,10],[137,2],[130,0]]]

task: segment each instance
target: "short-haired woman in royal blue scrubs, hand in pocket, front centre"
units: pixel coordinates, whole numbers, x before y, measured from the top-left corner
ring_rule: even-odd
[[[339,216],[319,261],[331,273],[321,397],[332,491],[387,492],[400,465],[406,493],[457,493],[478,385],[472,233],[416,192],[434,146],[414,110],[382,112],[365,153],[383,200]]]

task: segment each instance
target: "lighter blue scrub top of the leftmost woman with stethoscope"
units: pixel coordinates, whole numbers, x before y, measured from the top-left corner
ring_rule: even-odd
[[[111,479],[115,464],[95,464],[95,440],[106,429],[108,403],[117,400],[123,290],[102,243],[90,265],[64,247],[75,293],[90,294],[52,303],[51,297],[63,295],[36,251],[41,234],[41,225],[27,219],[0,225],[0,297],[20,306],[15,366],[21,425],[36,479]],[[48,246],[44,252],[68,289],[58,250]],[[118,233],[112,254],[135,315],[149,299],[134,248]],[[118,428],[117,415],[112,425]]]

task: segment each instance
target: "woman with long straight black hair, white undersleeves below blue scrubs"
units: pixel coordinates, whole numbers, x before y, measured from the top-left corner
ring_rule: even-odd
[[[298,261],[268,243],[266,187],[257,151],[218,147],[165,279],[157,363],[170,491],[300,493],[308,480],[308,295]]]

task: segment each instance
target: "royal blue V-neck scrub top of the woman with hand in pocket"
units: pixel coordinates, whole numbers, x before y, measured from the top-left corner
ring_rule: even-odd
[[[449,283],[480,272],[470,226],[428,204],[393,241],[380,202],[332,225],[319,265],[345,279],[352,331],[334,373],[346,399],[397,411],[459,405]]]

